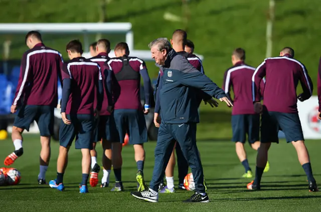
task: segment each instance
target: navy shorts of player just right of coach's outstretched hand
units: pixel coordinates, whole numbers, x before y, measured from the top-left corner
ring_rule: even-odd
[[[249,143],[260,140],[260,114],[232,115],[232,132],[234,142],[246,141],[246,134]]]

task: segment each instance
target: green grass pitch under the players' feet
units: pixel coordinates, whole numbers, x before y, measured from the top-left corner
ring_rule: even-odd
[[[309,149],[313,173],[317,181],[321,177],[321,163],[318,160],[321,144],[318,141],[306,141]],[[13,150],[10,140],[1,141],[0,158],[4,159]],[[47,180],[55,178],[58,143],[52,144],[51,164]],[[151,179],[154,164],[153,150],[155,142],[145,145],[146,161],[144,174],[146,181]],[[81,180],[81,153],[73,148],[69,154],[69,164],[64,178],[66,191],[37,185],[39,171],[39,138],[26,135],[25,154],[18,159],[14,167],[22,174],[17,186],[0,187],[2,210],[12,211],[320,211],[321,195],[308,192],[306,177],[291,144],[282,141],[272,145],[269,152],[270,171],[263,175],[262,191],[247,191],[246,183],[251,179],[241,179],[243,166],[237,159],[232,142],[199,141],[204,172],[211,199],[207,204],[184,204],[181,200],[193,193],[179,191],[174,194],[160,194],[158,203],[148,203],[130,196],[134,190],[136,165],[133,149],[123,149],[123,181],[125,191],[109,192],[109,188],[89,187],[89,193],[80,194],[78,183]],[[246,146],[248,147],[248,145]],[[101,159],[101,146],[97,146],[98,160]],[[256,152],[247,148],[251,167],[255,167]],[[177,170],[177,169],[176,169]],[[177,171],[175,172],[177,175]],[[101,177],[101,174],[100,174]],[[99,178],[100,178],[99,177]],[[176,180],[177,180],[177,176]],[[111,174],[111,182],[114,181]],[[177,181],[176,181],[177,182]]]

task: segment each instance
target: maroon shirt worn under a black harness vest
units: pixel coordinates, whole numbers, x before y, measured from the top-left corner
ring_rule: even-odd
[[[136,57],[129,57],[128,61],[130,67],[139,73],[140,70],[146,69],[145,63]],[[119,73],[122,69],[123,63],[119,58],[112,58],[108,62],[108,68],[113,71],[114,75]],[[117,84],[114,86],[114,84]],[[139,80],[121,80],[113,83],[113,97],[115,99],[114,109],[136,109],[142,110],[140,102],[140,78]]]

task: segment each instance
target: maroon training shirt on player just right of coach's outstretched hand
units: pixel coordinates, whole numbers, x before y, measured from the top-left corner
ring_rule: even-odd
[[[230,96],[231,87],[234,93],[232,115],[255,114],[252,99],[252,76],[255,68],[243,61],[236,63],[224,74],[223,90]],[[264,81],[260,82],[260,93],[264,90]]]

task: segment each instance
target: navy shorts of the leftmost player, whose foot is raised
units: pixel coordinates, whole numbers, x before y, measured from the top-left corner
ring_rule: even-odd
[[[54,131],[54,107],[48,105],[24,105],[15,117],[14,126],[29,131],[31,123],[37,122],[40,135],[49,137]]]

